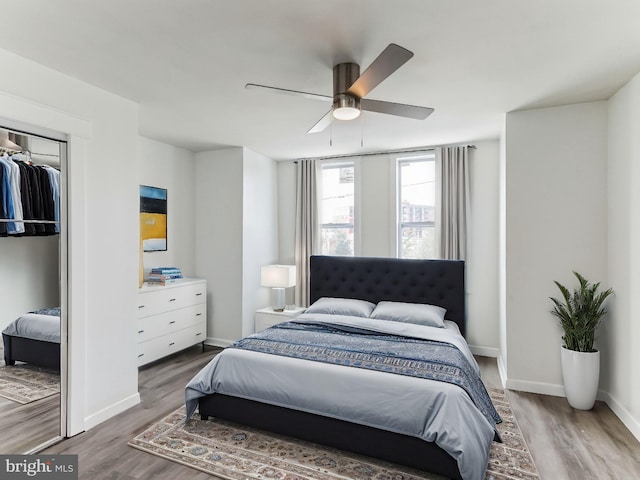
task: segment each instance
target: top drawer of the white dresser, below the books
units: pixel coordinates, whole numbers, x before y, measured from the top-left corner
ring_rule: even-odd
[[[138,294],[138,318],[206,303],[206,283],[166,286]]]

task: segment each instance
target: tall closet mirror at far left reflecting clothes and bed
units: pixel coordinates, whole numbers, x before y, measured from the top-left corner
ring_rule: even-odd
[[[60,169],[63,143],[0,128],[5,137],[22,152],[0,154],[21,172],[46,174],[45,164]],[[60,436],[61,317],[50,310],[61,305],[60,223],[34,219],[22,222],[31,226],[25,233],[13,234],[0,216],[0,452],[34,453]]]

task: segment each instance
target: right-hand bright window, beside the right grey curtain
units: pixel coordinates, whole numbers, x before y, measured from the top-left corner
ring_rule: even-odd
[[[436,257],[435,155],[397,158],[399,258]]]

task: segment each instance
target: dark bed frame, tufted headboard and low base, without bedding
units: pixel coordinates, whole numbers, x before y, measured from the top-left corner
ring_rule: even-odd
[[[310,301],[320,297],[429,303],[465,333],[464,262],[375,257],[310,258]],[[199,400],[209,416],[321,443],[436,473],[456,480],[456,461],[435,443],[343,420],[222,394]]]

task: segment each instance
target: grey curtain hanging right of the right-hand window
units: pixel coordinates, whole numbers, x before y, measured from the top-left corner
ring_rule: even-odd
[[[440,195],[437,198],[439,257],[465,260],[469,234],[468,147],[436,148]]]

